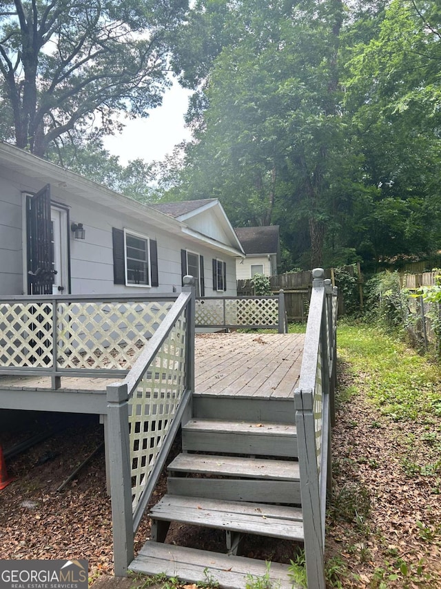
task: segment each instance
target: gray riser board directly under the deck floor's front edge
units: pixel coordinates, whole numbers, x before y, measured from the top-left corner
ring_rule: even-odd
[[[210,395],[207,392],[194,394],[192,405],[195,418],[296,423],[294,397],[240,397],[236,395]]]

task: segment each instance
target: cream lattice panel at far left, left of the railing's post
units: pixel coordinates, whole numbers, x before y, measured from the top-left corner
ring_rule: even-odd
[[[52,367],[52,305],[0,304],[0,365]]]

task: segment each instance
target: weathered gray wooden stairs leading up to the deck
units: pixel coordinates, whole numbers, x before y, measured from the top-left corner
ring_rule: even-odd
[[[267,574],[264,561],[240,557],[244,534],[302,543],[294,420],[292,398],[194,395],[167,494],[150,510],[150,540],[130,569],[242,589],[249,575]],[[225,552],[165,543],[172,521],[225,530]],[[271,563],[269,577],[274,587],[296,587],[286,564]]]

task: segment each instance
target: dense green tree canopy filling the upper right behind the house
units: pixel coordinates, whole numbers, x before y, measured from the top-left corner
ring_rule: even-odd
[[[167,197],[280,224],[288,265],[439,249],[440,21],[416,0],[199,0],[176,67],[194,143]]]

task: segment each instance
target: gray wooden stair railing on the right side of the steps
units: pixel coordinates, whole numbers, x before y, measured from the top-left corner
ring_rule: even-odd
[[[313,270],[299,387],[294,394],[308,586],[325,589],[325,511],[331,485],[337,289]]]

